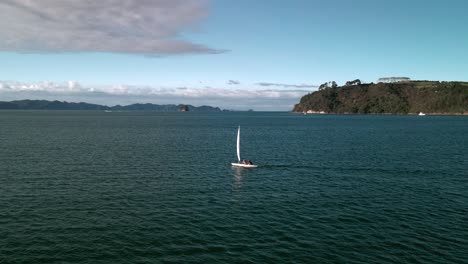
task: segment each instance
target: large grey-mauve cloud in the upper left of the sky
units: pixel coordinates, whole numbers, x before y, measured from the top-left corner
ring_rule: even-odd
[[[3,0],[0,51],[219,53],[180,36],[208,12],[205,0]]]

